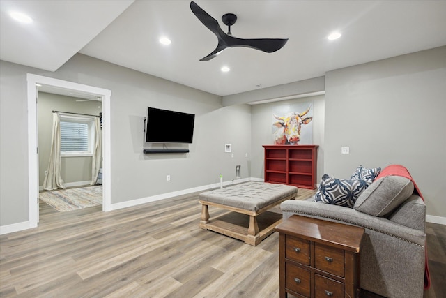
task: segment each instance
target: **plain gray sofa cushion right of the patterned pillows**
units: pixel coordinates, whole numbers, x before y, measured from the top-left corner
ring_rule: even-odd
[[[407,200],[413,193],[413,183],[401,176],[376,179],[357,198],[355,210],[372,216],[386,216]]]

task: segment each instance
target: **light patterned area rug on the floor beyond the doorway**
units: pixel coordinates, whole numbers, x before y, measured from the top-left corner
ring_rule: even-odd
[[[102,205],[102,185],[39,193],[39,199],[60,212]]]

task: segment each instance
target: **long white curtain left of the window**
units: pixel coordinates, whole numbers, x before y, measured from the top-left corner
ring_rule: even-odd
[[[53,113],[53,133],[49,152],[48,174],[43,180],[43,189],[52,191],[63,186],[61,177],[61,117],[59,113]]]

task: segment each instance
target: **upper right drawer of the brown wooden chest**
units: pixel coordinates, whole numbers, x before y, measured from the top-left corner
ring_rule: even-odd
[[[316,243],[314,255],[314,267],[344,277],[344,250]]]

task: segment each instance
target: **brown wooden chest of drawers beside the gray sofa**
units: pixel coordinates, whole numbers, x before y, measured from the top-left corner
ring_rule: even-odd
[[[280,297],[358,297],[364,228],[293,215],[279,231]]]

